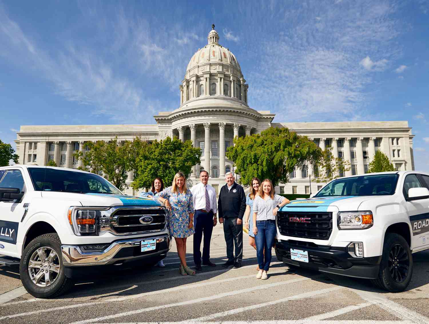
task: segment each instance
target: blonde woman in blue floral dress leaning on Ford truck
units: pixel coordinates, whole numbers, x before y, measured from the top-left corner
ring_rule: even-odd
[[[171,187],[157,193],[154,199],[163,202],[171,211],[169,230],[177,246],[180,258],[179,272],[182,275],[195,275],[195,271],[186,264],[186,239],[195,233],[193,228],[192,193],[186,186],[186,178],[182,172],[176,173]]]

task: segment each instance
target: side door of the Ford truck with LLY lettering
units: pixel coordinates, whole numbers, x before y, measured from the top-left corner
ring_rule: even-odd
[[[24,178],[20,169],[9,169],[0,171],[0,188],[19,188],[25,193]],[[24,214],[24,207],[16,200],[6,202],[0,201],[0,254],[6,251],[16,254],[16,238],[18,237],[18,226]]]

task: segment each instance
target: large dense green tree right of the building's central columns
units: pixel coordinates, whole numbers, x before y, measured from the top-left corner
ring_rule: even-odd
[[[273,185],[289,181],[289,174],[304,163],[314,164],[322,151],[306,136],[288,128],[268,128],[261,134],[234,138],[227,157],[240,174],[240,183],[248,184],[253,177],[271,179]]]

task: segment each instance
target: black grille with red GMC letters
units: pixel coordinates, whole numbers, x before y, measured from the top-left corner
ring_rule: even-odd
[[[332,232],[332,213],[279,211],[277,224],[281,235],[328,240]]]

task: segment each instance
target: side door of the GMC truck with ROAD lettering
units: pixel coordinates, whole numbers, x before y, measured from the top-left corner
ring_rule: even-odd
[[[404,180],[402,193],[405,199],[408,198],[410,188],[423,188],[426,183],[420,181],[420,175],[408,174]],[[424,185],[423,185],[424,183]],[[418,248],[429,245],[429,198],[405,201],[405,206],[410,217],[413,236],[411,238],[411,248]]]

